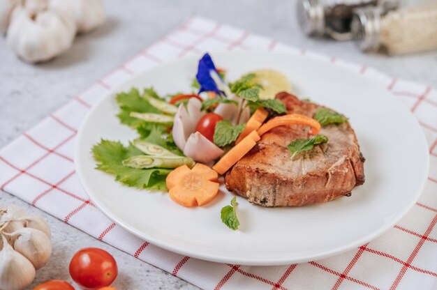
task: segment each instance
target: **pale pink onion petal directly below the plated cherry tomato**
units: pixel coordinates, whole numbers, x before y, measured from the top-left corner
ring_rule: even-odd
[[[212,162],[221,154],[223,150],[199,132],[191,134],[184,147],[184,155],[202,163]]]

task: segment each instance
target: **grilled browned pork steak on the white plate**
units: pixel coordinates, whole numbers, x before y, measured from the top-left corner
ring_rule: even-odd
[[[288,112],[314,116],[320,105],[279,93]],[[288,144],[309,139],[309,128],[279,126],[262,138],[225,175],[228,190],[262,206],[306,206],[348,194],[364,183],[364,158],[349,123],[326,125],[329,142],[290,160]]]

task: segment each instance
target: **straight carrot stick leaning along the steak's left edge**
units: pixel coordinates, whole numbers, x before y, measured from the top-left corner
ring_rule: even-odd
[[[249,135],[242,139],[242,142],[239,142],[239,144],[230,149],[230,151],[226,153],[221,160],[218,160],[212,169],[217,171],[219,174],[224,174],[230,169],[230,167],[234,166],[238,160],[242,159],[244,155],[251,151],[251,148],[255,146],[259,139],[260,136],[258,133],[256,131],[252,131]]]

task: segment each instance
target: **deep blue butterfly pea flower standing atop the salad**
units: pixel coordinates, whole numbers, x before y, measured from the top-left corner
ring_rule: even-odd
[[[215,76],[215,80],[212,75]],[[214,66],[214,62],[209,54],[206,53],[202,56],[202,59],[200,59],[198,73],[195,75],[195,78],[198,79],[200,84],[199,93],[202,93],[202,91],[214,91],[218,94],[225,95],[223,86],[226,86],[226,84],[220,75],[218,75],[216,66]]]

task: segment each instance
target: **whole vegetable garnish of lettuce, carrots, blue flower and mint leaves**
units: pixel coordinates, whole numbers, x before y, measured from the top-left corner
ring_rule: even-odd
[[[269,92],[275,91],[275,83],[281,88],[290,86],[281,73],[261,71],[275,77],[265,79]],[[170,198],[183,206],[202,206],[216,197],[218,174],[225,174],[269,130],[297,124],[309,126],[317,134],[320,123],[344,119],[322,109],[315,116],[320,123],[308,116],[287,114],[286,106],[274,95],[260,98],[260,81],[260,75],[248,73],[227,82],[225,70],[216,68],[205,54],[192,82],[195,91],[166,96],[159,96],[153,88],[118,93],[117,116],[138,132],[138,139],[127,146],[102,139],[92,148],[96,168],[128,186],[168,190]],[[327,138],[317,135],[295,140],[288,149],[293,158],[323,142]],[[234,197],[230,206],[221,210],[221,219],[230,229],[239,227],[236,206]]]

